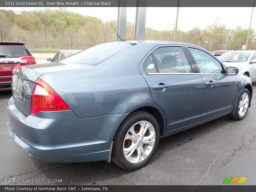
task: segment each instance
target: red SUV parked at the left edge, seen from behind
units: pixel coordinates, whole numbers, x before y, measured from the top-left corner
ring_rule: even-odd
[[[11,87],[16,66],[36,64],[28,47],[21,42],[0,42],[0,89]]]

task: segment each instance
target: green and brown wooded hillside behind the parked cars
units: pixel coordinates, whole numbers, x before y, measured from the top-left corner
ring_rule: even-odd
[[[86,14],[86,12],[84,13]],[[29,48],[85,49],[96,44],[116,41],[116,20],[103,22],[91,16],[68,12],[67,8],[21,11],[0,10],[0,33],[4,41],[23,41]],[[245,45],[248,30],[228,29],[217,18],[211,25],[184,32],[177,31],[177,41],[196,44],[209,51],[236,49]],[[145,40],[172,41],[173,30],[146,28]],[[126,40],[134,39],[134,24],[127,22]],[[255,32],[251,30],[248,49],[256,49]]]

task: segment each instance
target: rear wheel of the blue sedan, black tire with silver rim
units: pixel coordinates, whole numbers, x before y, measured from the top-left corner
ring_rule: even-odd
[[[111,159],[123,169],[139,169],[152,158],[159,140],[159,125],[156,118],[144,111],[133,112],[124,119],[116,131]]]

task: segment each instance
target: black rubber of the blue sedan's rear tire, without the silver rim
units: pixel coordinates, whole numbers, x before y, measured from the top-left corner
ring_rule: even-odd
[[[139,163],[131,163],[129,162],[125,156],[124,156],[124,151],[123,151],[123,147],[125,145],[125,136],[126,134],[128,134],[130,128],[136,124],[137,122],[140,121],[147,121],[150,124],[153,125],[153,128],[155,130],[155,143],[154,146],[152,146],[153,148],[151,149],[151,152],[149,153],[149,155],[142,160]],[[113,143],[113,149],[112,149],[112,158],[111,160],[116,163],[118,166],[120,166],[123,169],[126,170],[136,170],[139,169],[141,167],[143,167],[145,164],[148,163],[148,161],[152,158],[152,156],[154,155],[156,148],[158,146],[159,140],[160,140],[160,133],[159,133],[159,125],[156,121],[156,118],[154,116],[152,116],[151,114],[144,112],[144,111],[135,111],[131,114],[129,114],[124,121],[120,124],[120,126],[118,127],[115,137],[114,137],[114,143]],[[139,133],[138,133],[139,134]],[[151,133],[150,133],[151,134]],[[146,136],[146,133],[145,135]],[[131,140],[131,143],[133,141]],[[134,141],[136,142],[136,141]],[[135,144],[137,145],[137,144]],[[145,145],[145,144],[142,144]],[[146,147],[148,148],[148,147]],[[137,149],[135,149],[137,151]],[[146,151],[146,149],[145,149]],[[134,152],[132,152],[134,153]]]

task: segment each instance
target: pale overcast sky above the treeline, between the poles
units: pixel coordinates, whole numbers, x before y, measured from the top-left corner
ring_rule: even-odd
[[[35,9],[58,9],[58,7],[5,7],[4,9],[31,11]],[[98,17],[103,21],[117,19],[117,7],[67,7],[67,11]],[[127,8],[127,22],[135,22],[136,7]],[[177,7],[147,7],[146,27],[156,30],[170,30],[175,26]],[[256,28],[256,10],[252,18],[252,29]],[[180,7],[178,29],[189,31],[211,25],[216,18],[227,28],[237,26],[249,28],[252,7]]]

